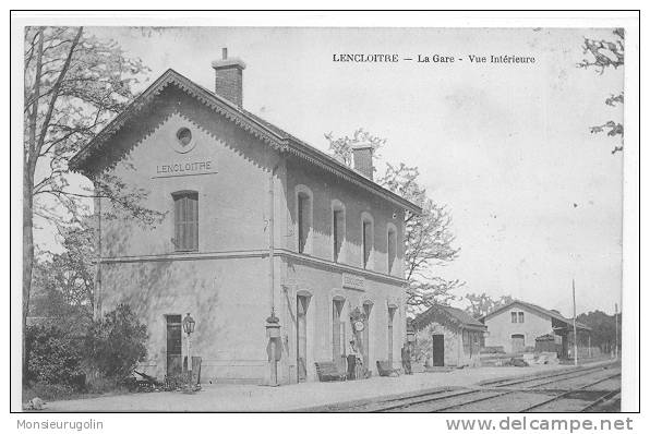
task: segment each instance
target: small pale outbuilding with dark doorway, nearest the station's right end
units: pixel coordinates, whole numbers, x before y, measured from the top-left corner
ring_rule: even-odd
[[[478,366],[485,325],[465,311],[433,305],[413,320],[419,347],[433,366]]]

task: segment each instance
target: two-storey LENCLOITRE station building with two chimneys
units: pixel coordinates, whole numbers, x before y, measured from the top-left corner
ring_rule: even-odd
[[[155,225],[95,200],[97,316],[128,303],[147,325],[140,366],[162,378],[192,355],[202,382],[264,383],[266,318],[279,318],[282,384],[315,381],[314,362],[400,363],[406,338],[405,218],[420,207],[354,167],[242,107],[244,63],[213,62],[215,89],[166,71],[71,161],[93,181],[146,193]],[[97,183],[96,183],[97,188]]]

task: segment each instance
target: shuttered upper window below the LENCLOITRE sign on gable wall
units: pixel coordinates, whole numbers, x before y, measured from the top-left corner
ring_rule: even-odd
[[[177,251],[198,250],[198,193],[183,191],[173,197],[173,244]]]

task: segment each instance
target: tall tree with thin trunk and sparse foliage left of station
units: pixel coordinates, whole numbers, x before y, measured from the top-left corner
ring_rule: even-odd
[[[109,198],[145,224],[160,217],[140,205],[147,192],[106,176],[94,180],[94,190],[79,188],[68,168],[70,158],[134,98],[132,86],[146,68],[83,27],[26,27],[24,36],[23,330],[36,220],[73,224],[87,214],[89,197]]]

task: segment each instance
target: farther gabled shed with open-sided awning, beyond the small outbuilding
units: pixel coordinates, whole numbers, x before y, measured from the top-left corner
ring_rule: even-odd
[[[485,347],[502,347],[505,352],[521,353],[532,351],[538,338],[538,347],[553,348],[549,346],[553,338],[558,357],[568,357],[571,350],[574,322],[557,311],[515,300],[479,320],[488,326]],[[576,328],[578,334],[590,330],[580,323],[576,323]]]

